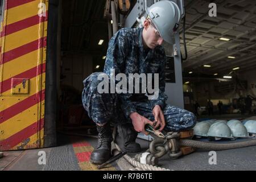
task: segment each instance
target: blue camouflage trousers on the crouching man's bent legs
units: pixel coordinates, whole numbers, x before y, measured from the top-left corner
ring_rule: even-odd
[[[98,93],[97,85],[101,82],[97,80],[100,72],[92,73],[87,77],[82,91],[82,104],[89,117],[96,124],[104,124],[111,122],[113,125],[122,123],[131,123],[130,118],[125,118],[123,114],[121,102],[118,100],[117,94],[113,93]],[[154,121],[150,104],[145,102],[133,102],[137,113],[146,117],[150,121]],[[167,131],[182,131],[195,126],[196,117],[193,113],[180,109],[179,107],[166,105],[163,108],[164,118],[166,120],[165,130]]]

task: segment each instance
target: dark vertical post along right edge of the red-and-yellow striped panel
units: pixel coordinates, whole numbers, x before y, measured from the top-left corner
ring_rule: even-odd
[[[59,0],[49,1],[46,55],[46,98],[44,109],[44,147],[56,146],[57,119],[57,30]]]

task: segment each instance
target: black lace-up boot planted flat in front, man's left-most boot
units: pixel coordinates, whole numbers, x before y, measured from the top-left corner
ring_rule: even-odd
[[[105,163],[110,158],[112,132],[110,130],[110,124],[107,123],[104,126],[98,126],[98,146],[90,155],[90,162],[93,164]]]

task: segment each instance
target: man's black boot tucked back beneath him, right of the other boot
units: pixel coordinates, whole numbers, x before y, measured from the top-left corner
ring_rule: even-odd
[[[118,125],[118,134],[120,138],[117,140],[119,147],[123,152],[140,152],[141,146],[135,142],[137,138],[137,131],[130,123]]]

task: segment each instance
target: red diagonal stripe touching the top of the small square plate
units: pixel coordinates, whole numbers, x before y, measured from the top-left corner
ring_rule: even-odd
[[[46,63],[40,64],[34,68],[28,69],[26,72],[20,73],[19,75],[15,75],[3,82],[0,82],[0,93],[6,92],[7,90],[11,89],[11,79],[12,78],[27,78],[31,79],[34,78],[42,73],[46,72]],[[17,82],[16,84],[21,84],[22,81]],[[15,85],[16,86],[16,85]]]

